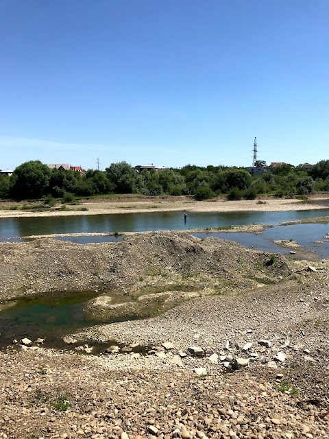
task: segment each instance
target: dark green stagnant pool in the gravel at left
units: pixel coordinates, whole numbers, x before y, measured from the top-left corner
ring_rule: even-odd
[[[95,292],[59,292],[0,302],[0,348],[11,345],[14,339],[19,341],[25,337],[32,342],[45,338],[47,348],[70,348],[62,341],[67,333],[95,324],[136,320],[134,316],[108,320],[92,318],[84,311],[84,304],[97,296],[99,294]],[[97,343],[93,342],[95,345]]]

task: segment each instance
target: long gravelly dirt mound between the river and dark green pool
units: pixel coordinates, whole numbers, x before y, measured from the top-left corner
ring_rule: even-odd
[[[73,244],[55,239],[0,244],[1,298],[64,289],[252,288],[291,274],[280,255],[188,233],[131,235],[119,243]]]

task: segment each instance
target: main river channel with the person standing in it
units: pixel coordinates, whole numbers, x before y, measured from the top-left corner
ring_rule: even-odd
[[[284,212],[183,212],[119,213],[36,218],[1,218],[0,239],[58,233],[114,233],[147,230],[188,230],[191,228],[278,224],[297,219],[329,215],[329,209]]]

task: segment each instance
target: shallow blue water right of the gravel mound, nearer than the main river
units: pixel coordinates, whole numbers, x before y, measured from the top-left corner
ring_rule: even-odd
[[[315,253],[314,259],[329,258],[329,224],[293,224],[291,226],[274,226],[267,227],[262,235],[254,235],[254,233],[193,233],[198,238],[217,237],[221,239],[229,239],[236,241],[247,248],[255,248],[256,250],[281,253],[288,256],[298,257],[296,254],[291,255],[291,250],[296,248],[287,248],[278,246],[271,242],[271,239],[283,239],[289,241],[292,239],[300,244],[304,250]],[[327,237],[327,239],[326,239]],[[303,257],[304,258],[304,257]]]

